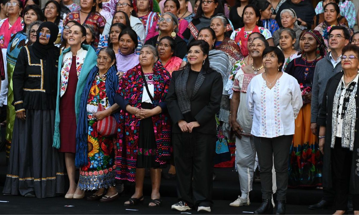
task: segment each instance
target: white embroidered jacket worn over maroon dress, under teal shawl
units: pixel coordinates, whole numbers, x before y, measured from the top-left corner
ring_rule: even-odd
[[[77,77],[80,76],[81,68],[84,63],[87,50],[81,48],[76,54],[76,72]],[[62,68],[61,68],[61,82],[60,82],[60,97],[65,94],[67,81],[69,81],[69,73],[72,63],[72,52],[66,52],[62,58]]]

